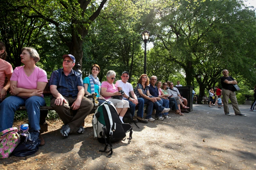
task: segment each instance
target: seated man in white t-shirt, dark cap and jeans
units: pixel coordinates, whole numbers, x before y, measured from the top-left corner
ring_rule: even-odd
[[[128,83],[129,79],[129,73],[127,71],[122,73],[121,76],[122,80],[117,80],[115,85],[117,86],[118,90],[123,90],[125,92],[125,95],[123,95],[123,100],[127,100],[129,102],[130,106],[130,112],[132,115],[132,122],[137,123],[148,123],[148,120],[145,120],[143,118],[143,112],[144,112],[144,100],[142,98],[137,98],[136,94],[133,92],[133,88],[131,83]],[[131,93],[132,98],[129,96],[129,92]],[[135,106],[138,105],[138,112],[137,112],[137,118],[134,116],[135,113]]]

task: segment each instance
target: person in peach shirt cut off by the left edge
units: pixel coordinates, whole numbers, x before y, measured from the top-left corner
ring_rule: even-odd
[[[0,103],[5,99],[6,92],[10,88],[10,78],[13,72],[11,64],[5,61],[6,56],[5,44],[0,41]],[[8,78],[8,82],[4,87],[6,77]]]

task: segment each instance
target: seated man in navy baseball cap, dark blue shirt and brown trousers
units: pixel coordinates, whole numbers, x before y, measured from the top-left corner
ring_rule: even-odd
[[[60,133],[63,137],[67,137],[71,132],[78,134],[84,132],[84,128],[80,125],[93,109],[93,102],[84,97],[82,75],[72,69],[75,66],[75,57],[65,54],[62,58],[63,68],[52,72],[49,86],[53,95],[51,106],[64,123]],[[77,114],[71,116],[70,109],[77,110]]]

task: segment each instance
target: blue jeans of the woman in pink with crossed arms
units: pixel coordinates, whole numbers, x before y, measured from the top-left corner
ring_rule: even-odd
[[[9,96],[0,104],[0,132],[11,128],[14,120],[14,113],[19,106],[27,109],[28,122],[31,130],[40,130],[40,106],[44,106],[43,97],[32,96],[27,99],[18,96]]]

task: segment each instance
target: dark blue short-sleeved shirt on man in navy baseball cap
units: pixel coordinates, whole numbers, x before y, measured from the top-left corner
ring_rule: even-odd
[[[58,92],[65,97],[77,97],[77,86],[83,86],[83,79],[80,73],[75,72],[73,69],[70,74],[66,76],[63,72],[63,68],[59,68],[52,72],[49,80],[49,86],[56,85]]]

